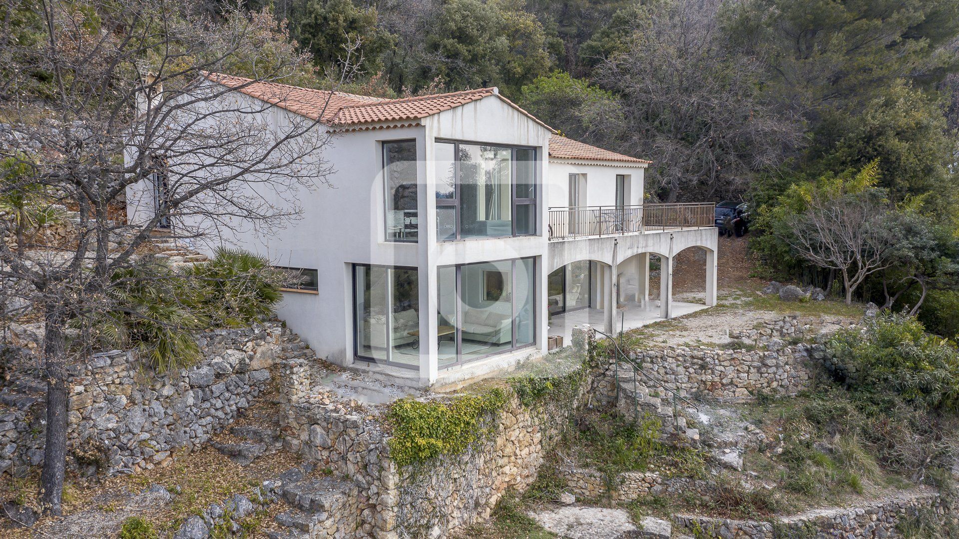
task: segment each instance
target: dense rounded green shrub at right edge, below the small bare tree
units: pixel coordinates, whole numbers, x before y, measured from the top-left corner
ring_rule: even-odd
[[[879,316],[831,340],[835,373],[855,391],[893,391],[930,410],[959,410],[959,353],[913,316]]]

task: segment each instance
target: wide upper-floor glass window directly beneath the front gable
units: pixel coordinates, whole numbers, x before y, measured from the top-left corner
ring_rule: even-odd
[[[536,233],[536,151],[437,142],[439,241]]]

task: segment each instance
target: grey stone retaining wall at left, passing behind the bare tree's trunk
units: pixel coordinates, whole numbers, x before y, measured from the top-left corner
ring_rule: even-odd
[[[279,322],[204,332],[205,358],[190,369],[145,376],[135,352],[112,351],[71,367],[68,464],[84,475],[137,472],[171,462],[233,422],[285,356]],[[0,473],[27,473],[43,461],[44,389],[21,358],[15,379],[0,390]]]

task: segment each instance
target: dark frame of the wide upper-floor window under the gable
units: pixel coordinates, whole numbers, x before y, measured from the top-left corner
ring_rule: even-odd
[[[440,239],[439,234],[436,234],[436,242],[461,242],[461,241],[470,241],[470,240],[495,240],[502,238],[523,238],[526,236],[537,236],[539,235],[539,219],[538,219],[538,208],[539,208],[539,198],[541,189],[539,188],[539,167],[536,165],[539,163],[540,151],[539,148],[535,146],[524,146],[516,144],[501,144],[494,142],[479,142],[475,140],[456,140],[456,139],[446,139],[446,138],[436,138],[433,139],[433,144],[452,144],[453,145],[453,158],[454,158],[454,196],[453,199],[435,199],[435,191],[433,188],[433,198],[436,201],[436,213],[438,215],[440,207],[454,207],[454,218],[456,223],[456,237],[451,239]],[[510,175],[510,185],[509,185],[509,207],[510,207],[510,235],[508,236],[482,236],[479,238],[463,238],[461,234],[460,226],[460,216],[462,215],[461,202],[462,199],[459,193],[459,147],[460,145],[468,146],[492,146],[495,148],[509,149],[509,175]],[[532,198],[527,199],[518,199],[516,197],[516,151],[517,150],[529,150],[533,152],[533,177],[532,177],[532,186],[533,186],[533,196]],[[433,162],[433,167],[435,167],[435,160]],[[434,171],[435,172],[435,171]],[[533,231],[526,234],[517,234],[516,233],[516,207],[528,205],[532,206],[533,215],[537,216],[533,222]]]

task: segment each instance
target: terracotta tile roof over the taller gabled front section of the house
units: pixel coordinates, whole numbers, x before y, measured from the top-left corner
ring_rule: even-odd
[[[301,88],[278,82],[254,82],[244,77],[234,77],[221,73],[211,73],[207,75],[207,78],[267,103],[338,127],[420,120],[437,112],[496,95],[507,105],[526,114],[541,126],[552,130],[526,110],[499,95],[496,88],[479,88],[403,99],[381,99],[344,92]]]

